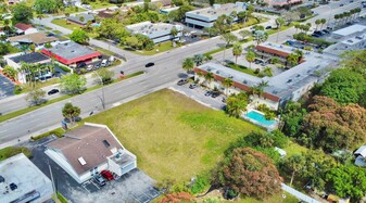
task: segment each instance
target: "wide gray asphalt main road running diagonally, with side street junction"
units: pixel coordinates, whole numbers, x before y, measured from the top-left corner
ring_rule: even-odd
[[[359,2],[361,1],[357,1],[355,3]],[[351,8],[355,8],[355,3],[345,4],[341,8],[341,10],[345,11]],[[319,13],[317,18],[325,18],[329,16],[329,12],[342,12],[341,10],[333,9],[332,11],[325,11]],[[310,22],[315,22],[315,20],[312,18]],[[281,31],[279,34],[279,41],[291,38],[293,33],[294,29]],[[269,37],[269,41],[273,41],[276,38],[276,35],[273,35]],[[108,43],[105,42],[98,41],[98,43],[104,49],[109,48]],[[181,62],[184,59],[193,56],[197,53],[204,53],[210,50],[217,49],[218,47],[222,47],[223,43],[224,42],[219,39],[219,37],[216,37],[153,56],[140,56],[135,54],[131,56],[126,55],[128,62],[121,66],[121,68],[127,68],[130,72],[147,69],[147,74],[104,87],[106,109],[116,106],[138,97],[173,85],[178,80],[179,77],[185,76],[185,73],[181,69]],[[129,52],[125,53],[126,51],[121,49],[115,49],[112,51],[118,51],[118,54],[131,54]],[[123,52],[121,53],[121,51]],[[148,62],[154,62],[155,66],[144,68],[144,64]],[[37,135],[39,132],[48,131],[59,127],[60,122],[63,118],[61,109],[66,102],[72,102],[73,104],[79,106],[81,109],[81,116],[88,116],[91,111],[96,111],[96,106],[98,106],[97,109],[99,110],[101,109],[101,94],[102,89],[98,89],[81,96],[74,97],[71,100],[61,101],[16,118],[0,123],[0,148],[12,144],[10,141],[14,141],[17,138],[22,138],[22,140],[24,140],[31,135]],[[2,110],[3,105],[1,105],[0,112]]]

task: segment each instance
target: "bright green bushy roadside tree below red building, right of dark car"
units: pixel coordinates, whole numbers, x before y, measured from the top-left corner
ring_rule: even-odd
[[[87,79],[77,74],[64,75],[61,77],[61,89],[68,94],[81,93],[85,89]]]

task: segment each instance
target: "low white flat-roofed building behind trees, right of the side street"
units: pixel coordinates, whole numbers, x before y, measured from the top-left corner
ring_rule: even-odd
[[[171,30],[175,27],[178,30],[177,36],[171,35]],[[142,22],[138,24],[132,24],[126,26],[127,30],[132,34],[141,34],[149,37],[153,40],[154,43],[168,41],[168,40],[177,40],[181,37],[182,26],[180,25],[172,25],[168,23],[151,23],[151,22]]]

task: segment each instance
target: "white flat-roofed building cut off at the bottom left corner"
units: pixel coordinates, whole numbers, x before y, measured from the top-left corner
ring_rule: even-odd
[[[0,162],[0,202],[41,203],[52,193],[51,180],[23,153]]]

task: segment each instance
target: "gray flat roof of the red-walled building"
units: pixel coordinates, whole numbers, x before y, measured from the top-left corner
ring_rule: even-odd
[[[59,43],[52,47],[50,51],[66,60],[81,58],[87,54],[91,54],[96,52],[94,50],[89,49],[86,46],[78,45],[74,41],[65,41],[65,42]]]

